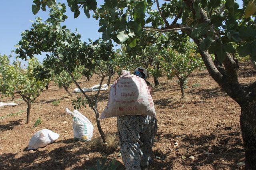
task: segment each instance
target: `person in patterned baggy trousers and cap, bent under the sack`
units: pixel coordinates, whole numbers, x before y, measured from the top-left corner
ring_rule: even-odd
[[[147,70],[138,67],[134,75],[146,81]],[[151,95],[151,85],[146,81]],[[145,88],[145,87],[144,87]],[[138,112],[140,112],[138,110]],[[152,146],[157,132],[154,115],[124,115],[117,117],[119,143],[126,170],[147,169],[152,158]]]

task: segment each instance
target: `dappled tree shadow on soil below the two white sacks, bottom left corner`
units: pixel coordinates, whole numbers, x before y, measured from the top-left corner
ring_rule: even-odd
[[[19,158],[16,154],[2,154],[0,156],[0,169],[87,169],[88,166],[95,166],[98,160],[104,157],[111,162],[112,157],[118,157],[117,149],[106,151],[101,138],[93,138],[90,142],[80,142],[74,139],[58,140],[54,144],[65,146],[54,148],[48,152],[48,146],[39,148],[36,151],[26,151]],[[24,151],[26,148],[24,149]],[[97,153],[100,152],[100,153]],[[90,158],[90,154],[98,154]],[[117,161],[118,162],[118,161]],[[121,162],[119,162],[121,163]],[[124,169],[120,164],[118,169]]]

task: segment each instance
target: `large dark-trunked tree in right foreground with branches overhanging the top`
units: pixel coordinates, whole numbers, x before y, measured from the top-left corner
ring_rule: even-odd
[[[40,8],[45,10],[46,5],[50,7],[55,0],[33,2],[35,14]],[[105,41],[136,47],[142,32],[146,31],[179,31],[192,38],[211,77],[240,105],[246,169],[256,168],[256,82],[239,83],[236,62],[231,55],[238,51],[241,57],[251,55],[252,60],[256,60],[254,0],[243,0],[242,7],[236,0],[166,0],[163,4],[158,0],[105,0],[100,8],[96,0],[67,2],[74,18],[80,10],[88,18],[89,11],[94,11],[93,17],[99,21],[98,31]],[[213,60],[219,62],[214,65]]]

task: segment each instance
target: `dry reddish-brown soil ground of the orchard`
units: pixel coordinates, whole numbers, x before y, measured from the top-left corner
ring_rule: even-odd
[[[239,81],[256,81],[256,72],[250,63],[241,63]],[[116,77],[114,77],[115,79]],[[113,79],[113,80],[114,80]],[[149,79],[153,82],[152,78]],[[160,86],[153,88],[153,99],[158,118],[158,134],[153,147],[154,160],[150,169],[243,169],[244,149],[240,133],[239,106],[222,91],[207,71],[196,71],[188,80],[186,98],[180,99],[176,79],[160,78]],[[82,87],[99,83],[94,75],[89,82],[80,80]],[[199,85],[198,87],[194,87]],[[73,91],[74,85],[69,89]],[[92,94],[92,93],[88,93]],[[80,110],[94,125],[92,142],[73,139],[72,118],[65,108],[72,108],[72,99],[64,89],[51,82],[50,89],[32,104],[31,123],[26,124],[26,103],[16,95],[16,107],[0,108],[0,169],[87,169],[97,160],[106,157],[122,163],[116,137],[116,118],[101,121],[115,147],[106,151],[100,144],[93,111],[87,107]],[[98,110],[106,106],[108,91],[102,91]],[[60,100],[59,106],[53,101]],[[10,101],[10,98],[2,99]],[[11,114],[14,113],[14,114]],[[17,113],[17,114],[15,114]],[[36,119],[42,124],[33,127]],[[56,142],[37,151],[27,151],[31,136],[47,128],[60,134]],[[178,142],[175,146],[174,143]],[[194,156],[194,159],[190,159]],[[118,169],[123,169],[121,165]]]

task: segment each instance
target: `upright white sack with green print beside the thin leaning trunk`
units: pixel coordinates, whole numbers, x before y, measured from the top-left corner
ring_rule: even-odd
[[[77,110],[71,112],[66,108],[66,113],[73,117],[74,138],[82,141],[90,141],[93,134],[93,125],[89,119]]]

